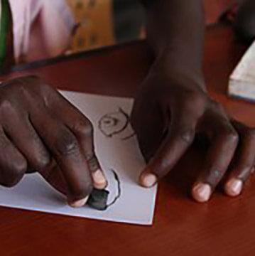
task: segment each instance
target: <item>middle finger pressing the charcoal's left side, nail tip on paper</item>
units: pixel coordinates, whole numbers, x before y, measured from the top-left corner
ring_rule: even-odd
[[[92,178],[75,135],[45,110],[33,112],[31,122],[63,173],[68,203],[83,206],[92,191]]]

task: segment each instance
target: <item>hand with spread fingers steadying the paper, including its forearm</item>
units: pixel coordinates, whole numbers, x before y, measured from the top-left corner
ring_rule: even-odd
[[[224,191],[238,196],[254,171],[255,130],[232,120],[207,94],[202,76],[202,1],[143,1],[155,62],[136,96],[131,123],[148,160],[140,176],[151,187],[166,176],[203,134],[210,141],[205,164],[191,189],[208,201],[227,175]],[[184,18],[185,17],[185,18]],[[234,167],[229,170],[234,161]]]

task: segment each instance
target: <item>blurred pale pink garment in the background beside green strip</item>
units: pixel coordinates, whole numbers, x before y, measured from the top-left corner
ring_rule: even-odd
[[[65,0],[9,0],[16,63],[60,55],[72,38],[75,20]]]

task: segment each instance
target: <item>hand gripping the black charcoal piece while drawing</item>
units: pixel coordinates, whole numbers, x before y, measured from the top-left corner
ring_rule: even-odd
[[[94,154],[92,124],[36,77],[0,86],[0,184],[14,186],[36,170],[70,206],[83,206],[107,181]]]

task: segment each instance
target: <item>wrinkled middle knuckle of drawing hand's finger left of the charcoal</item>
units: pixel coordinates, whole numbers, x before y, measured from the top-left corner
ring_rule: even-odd
[[[63,132],[55,142],[55,151],[58,156],[70,156],[78,154],[79,144],[70,132]]]

